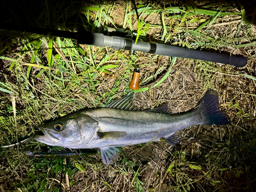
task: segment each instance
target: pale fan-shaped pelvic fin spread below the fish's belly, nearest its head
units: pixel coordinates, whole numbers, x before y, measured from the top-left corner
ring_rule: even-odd
[[[101,147],[100,152],[103,163],[106,165],[110,164],[111,161],[114,160],[120,154],[119,149],[114,146]]]

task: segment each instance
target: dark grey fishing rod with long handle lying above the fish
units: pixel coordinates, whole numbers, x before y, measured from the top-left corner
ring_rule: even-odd
[[[63,38],[75,39],[78,44],[86,44],[97,47],[110,47],[113,49],[141,51],[155,55],[166,55],[173,57],[182,57],[189,59],[199,59],[211,62],[224,63],[237,67],[244,67],[247,64],[247,59],[244,56],[225,55],[220,53],[210,53],[194,49],[187,49],[178,46],[170,46],[159,43],[136,41],[132,38],[121,36],[109,36],[102,33],[92,33],[88,31],[61,31],[55,29],[30,27],[25,25],[13,25],[5,22],[0,23],[0,29],[36,33],[41,35],[51,35]]]

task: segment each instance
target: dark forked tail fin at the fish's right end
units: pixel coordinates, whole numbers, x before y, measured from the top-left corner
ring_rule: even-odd
[[[219,95],[217,91],[208,90],[196,108],[203,116],[200,124],[229,124],[229,117],[224,111],[220,111]]]

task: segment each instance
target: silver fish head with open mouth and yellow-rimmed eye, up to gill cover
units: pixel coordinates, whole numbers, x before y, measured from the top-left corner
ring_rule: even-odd
[[[41,125],[44,135],[34,135],[34,139],[52,146],[82,148],[97,132],[98,122],[81,113]]]

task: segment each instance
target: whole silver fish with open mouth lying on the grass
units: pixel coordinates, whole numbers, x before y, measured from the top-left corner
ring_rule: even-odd
[[[134,94],[114,100],[101,108],[67,115],[38,128],[44,135],[34,139],[52,146],[67,148],[99,148],[103,163],[108,165],[127,145],[165,141],[176,145],[179,131],[197,124],[229,124],[220,110],[217,91],[208,90],[196,108],[173,114],[168,104],[141,110],[134,105]]]

